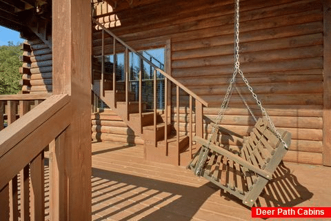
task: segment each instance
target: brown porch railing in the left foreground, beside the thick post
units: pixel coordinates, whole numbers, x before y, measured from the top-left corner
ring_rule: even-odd
[[[0,96],[0,116],[8,124],[0,131],[0,220],[45,220],[44,150],[49,144],[53,152],[63,148],[59,140],[70,125],[70,111],[68,95]],[[52,203],[60,188],[58,167],[50,162],[51,217],[59,211]]]

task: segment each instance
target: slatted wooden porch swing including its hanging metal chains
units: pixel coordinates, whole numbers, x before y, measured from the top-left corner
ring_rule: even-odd
[[[201,148],[194,155],[188,168],[195,175],[205,177],[221,189],[243,200],[243,204],[251,207],[268,181],[272,180],[272,174],[288,151],[291,133],[281,129],[277,130],[240,70],[239,0],[235,1],[234,39],[234,73],[221,104],[221,110],[212,124],[213,128],[208,140],[194,137],[193,140],[201,144]],[[252,93],[263,117],[257,119],[253,115],[247,102],[235,86],[238,74]],[[226,149],[225,145],[216,142],[217,134],[221,128],[219,123],[223,118],[225,109],[228,108],[234,88],[256,122],[250,135],[243,137],[243,146],[236,153]]]

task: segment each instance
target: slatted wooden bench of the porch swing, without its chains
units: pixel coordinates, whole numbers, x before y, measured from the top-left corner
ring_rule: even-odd
[[[290,146],[291,134],[280,129],[279,133]],[[202,145],[199,152],[209,152],[204,161],[201,161],[203,154],[197,153],[188,168],[197,171],[203,162],[200,175],[237,196],[247,206],[254,205],[287,152],[265,117],[259,118],[250,136],[243,137],[243,147],[237,154],[222,145],[209,144],[201,137],[194,137],[194,140]]]

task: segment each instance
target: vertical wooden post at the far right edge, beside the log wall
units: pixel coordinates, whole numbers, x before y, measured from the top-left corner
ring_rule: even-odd
[[[331,166],[331,0],[323,0],[323,165]]]

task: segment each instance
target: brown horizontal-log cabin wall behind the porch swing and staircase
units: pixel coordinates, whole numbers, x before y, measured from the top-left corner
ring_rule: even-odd
[[[322,164],[321,1],[241,1],[240,12],[241,70],[275,125],[292,133],[285,160]],[[120,26],[113,27],[111,16],[105,17],[104,23],[137,49],[139,42],[170,39],[172,76],[209,102],[210,107],[203,111],[205,131],[210,131],[208,123],[219,112],[233,71],[233,14],[232,0],[169,0],[116,12]],[[94,55],[100,55],[101,33],[94,33],[93,39]],[[111,48],[112,41],[105,42],[105,48]],[[243,82],[238,80],[237,85],[252,104],[253,113],[261,115]],[[181,106],[186,103],[187,98],[181,97]],[[186,133],[185,108],[181,113],[181,133]],[[239,95],[234,93],[222,126],[245,135],[253,125]],[[240,145],[227,136],[221,140]]]

